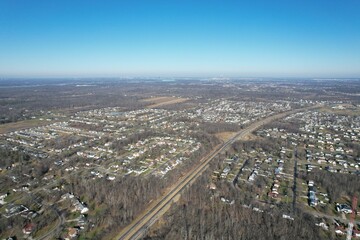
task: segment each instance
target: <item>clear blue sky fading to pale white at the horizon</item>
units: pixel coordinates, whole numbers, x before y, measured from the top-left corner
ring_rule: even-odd
[[[0,76],[360,77],[359,0],[1,0]]]

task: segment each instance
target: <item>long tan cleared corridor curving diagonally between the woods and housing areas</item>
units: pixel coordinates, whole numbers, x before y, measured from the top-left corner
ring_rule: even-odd
[[[249,125],[245,129],[239,131],[234,137],[224,142],[222,145],[217,146],[212,152],[203,157],[200,160],[200,164],[197,165],[193,170],[189,171],[184,175],[179,181],[177,181],[162,197],[153,202],[142,214],[140,214],[132,223],[125,227],[115,239],[128,240],[128,239],[139,239],[146,233],[147,229],[160,217],[162,216],[169,206],[175,199],[175,197],[180,194],[180,192],[196,180],[197,177],[201,175],[202,172],[208,166],[208,163],[214,159],[221,151],[228,148],[235,141],[243,139],[248,134],[252,133],[262,125],[268,124],[274,120],[281,119],[289,114],[310,110],[318,108],[319,106],[295,109],[292,111],[287,111],[272,115],[270,117],[260,119],[257,122]]]

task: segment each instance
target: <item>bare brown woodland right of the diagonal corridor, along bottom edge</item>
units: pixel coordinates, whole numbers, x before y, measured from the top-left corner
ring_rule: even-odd
[[[298,212],[295,220],[282,218],[281,210],[255,212],[243,206],[242,192],[227,188],[224,197],[234,200],[225,204],[220,196],[206,187],[206,177],[186,191],[173,206],[160,227],[152,229],[146,239],[329,239],[310,215]],[[263,208],[263,207],[262,207]]]

